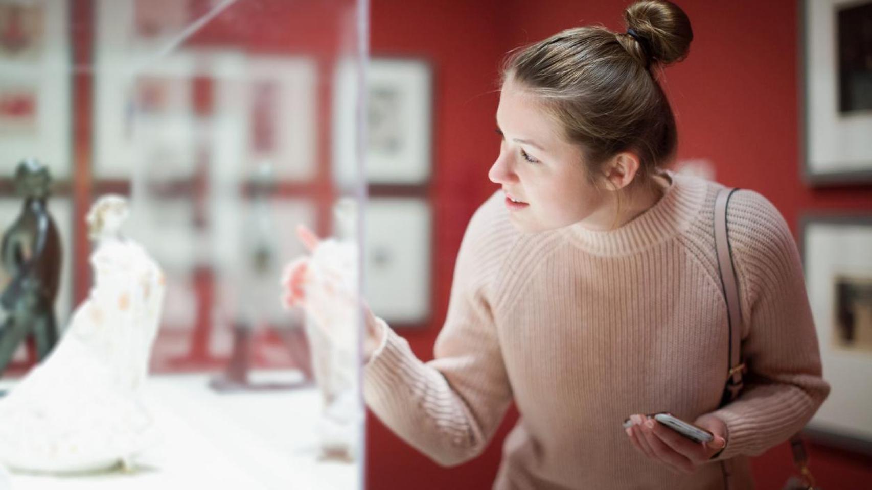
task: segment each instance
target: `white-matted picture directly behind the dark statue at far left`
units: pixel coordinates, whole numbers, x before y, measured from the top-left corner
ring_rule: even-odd
[[[22,205],[23,199],[0,198],[0,234],[5,233],[15,223]],[[60,234],[61,272],[58,298],[55,299],[55,318],[58,328],[63,329],[72,313],[72,203],[68,198],[54,196],[48,199],[48,207]],[[3,276],[5,282],[5,272]]]

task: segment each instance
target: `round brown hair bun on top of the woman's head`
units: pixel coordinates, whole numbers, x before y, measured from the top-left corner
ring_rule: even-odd
[[[666,0],[641,0],[623,12],[627,29],[643,37],[640,46],[650,62],[671,64],[687,57],[693,40],[691,21],[684,10]]]

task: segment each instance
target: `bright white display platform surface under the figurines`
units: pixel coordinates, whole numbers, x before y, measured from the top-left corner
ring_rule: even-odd
[[[262,374],[269,380],[296,377],[294,372]],[[216,393],[208,386],[211,377],[175,374],[148,379],[146,403],[161,438],[136,460],[132,472],[64,477],[13,473],[10,490],[361,487],[358,463],[318,460],[320,404],[314,387]],[[261,379],[264,376],[253,373],[252,381]],[[0,389],[12,385],[3,380]]]

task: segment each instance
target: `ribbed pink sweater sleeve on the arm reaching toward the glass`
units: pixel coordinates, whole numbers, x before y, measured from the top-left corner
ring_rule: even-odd
[[[491,310],[511,231],[491,201],[473,216],[460,245],[435,359],[420,361],[405,339],[385,328],[384,345],[364,368],[364,399],[372,412],[443,466],[480,454],[512,398]]]

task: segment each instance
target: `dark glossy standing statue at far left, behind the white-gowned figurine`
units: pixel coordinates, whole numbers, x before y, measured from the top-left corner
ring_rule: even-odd
[[[0,293],[0,306],[8,315],[0,325],[0,374],[28,336],[34,339],[39,361],[58,342],[54,300],[61,249],[58,227],[45,203],[50,185],[51,174],[43,164],[31,158],[18,164],[15,188],[24,205],[0,245],[0,265],[10,278]]]

